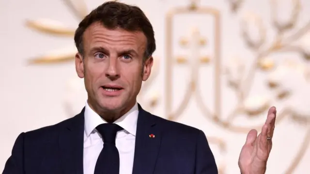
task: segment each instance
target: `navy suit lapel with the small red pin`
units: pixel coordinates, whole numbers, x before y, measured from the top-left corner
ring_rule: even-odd
[[[155,116],[139,104],[133,174],[153,174],[160,148],[161,132]],[[150,137],[150,135],[153,137]]]

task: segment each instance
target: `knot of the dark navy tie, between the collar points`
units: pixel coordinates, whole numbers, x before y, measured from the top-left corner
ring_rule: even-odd
[[[104,143],[115,144],[116,133],[123,128],[114,123],[104,123],[98,125],[96,130],[101,134]]]

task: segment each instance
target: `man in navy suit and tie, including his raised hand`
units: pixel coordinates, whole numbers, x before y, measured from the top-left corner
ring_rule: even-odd
[[[217,174],[201,130],[165,120],[137,103],[151,74],[152,25],[140,8],[106,2],[79,24],[75,64],[88,100],[81,113],[21,133],[3,174]],[[238,161],[242,174],[264,174],[276,108],[248,133]],[[267,136],[268,135],[268,136]]]

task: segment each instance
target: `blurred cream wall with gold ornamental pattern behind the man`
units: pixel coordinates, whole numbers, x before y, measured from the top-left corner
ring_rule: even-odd
[[[139,102],[205,132],[221,174],[238,174],[250,129],[278,110],[267,174],[310,170],[309,0],[120,0],[155,29],[151,79]],[[78,114],[79,21],[104,0],[0,0],[0,171],[20,132]]]

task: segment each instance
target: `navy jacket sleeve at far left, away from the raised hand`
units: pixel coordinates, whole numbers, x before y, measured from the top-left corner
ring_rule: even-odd
[[[2,174],[24,174],[24,132],[16,138],[12,154],[6,161]]]

